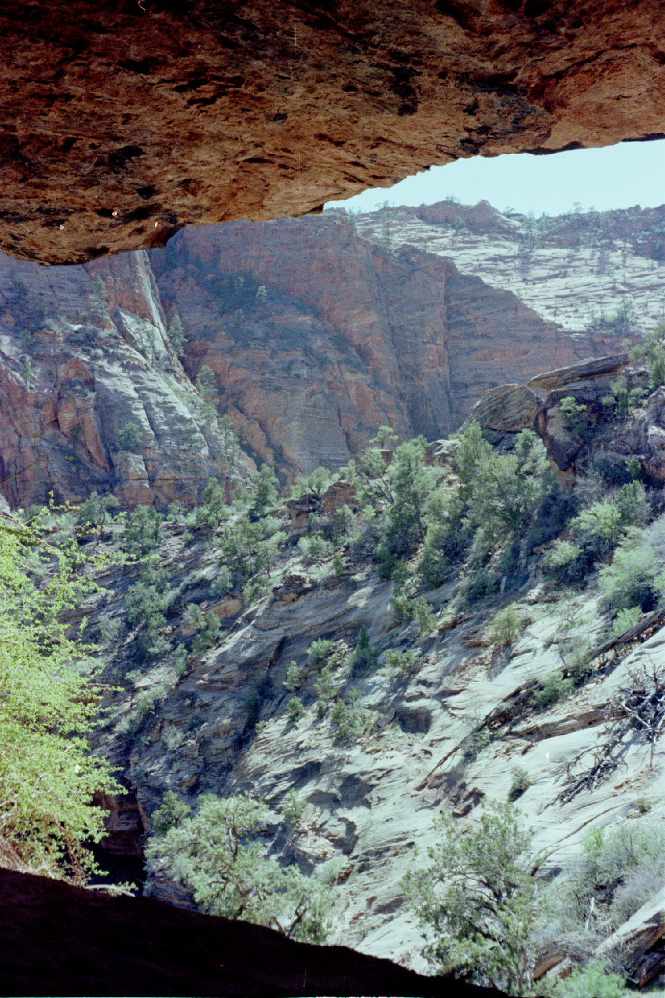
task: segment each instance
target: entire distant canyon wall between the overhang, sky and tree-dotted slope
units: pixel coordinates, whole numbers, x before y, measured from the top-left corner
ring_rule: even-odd
[[[636,215],[621,243],[625,219],[610,215],[536,229],[442,203],[192,228],[85,266],[0,257],[3,493],[192,503],[210,475],[251,463],[229,463],[215,407],[286,475],[344,464],[382,424],[446,435],[486,389],[612,353],[633,317],[653,320],[665,223]],[[175,313],[184,367],[166,335]]]

